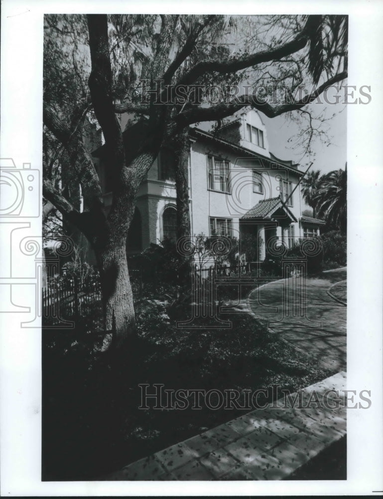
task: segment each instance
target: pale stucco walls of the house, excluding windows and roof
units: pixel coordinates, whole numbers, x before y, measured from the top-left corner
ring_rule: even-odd
[[[267,130],[260,116],[254,110],[237,113],[233,126],[228,126],[226,131],[230,136],[226,140],[236,142],[238,146],[247,148],[265,158],[270,158],[267,141]],[[261,148],[249,142],[246,135],[246,125],[262,130],[263,145]],[[98,138],[98,142],[100,137]],[[231,192],[223,193],[208,189],[208,163],[207,156],[212,155],[230,163]],[[102,168],[101,168],[102,170]],[[150,243],[158,244],[163,240],[162,214],[167,206],[175,206],[176,190],[173,181],[159,180],[158,158],[153,162],[145,181],[142,182],[136,207],[139,210],[142,222],[142,248]],[[253,170],[261,174],[263,192],[257,193],[253,189]],[[101,172],[101,182],[103,175]],[[263,199],[279,197],[280,180],[292,182],[292,188],[297,185],[300,175],[283,165],[272,165],[262,158],[251,158],[241,155],[241,151],[234,152],[228,146],[214,143],[208,138],[198,138],[192,141],[189,157],[189,197],[191,231],[193,235],[210,233],[209,218],[224,218],[232,220],[233,235],[240,235],[240,220],[245,213]],[[105,204],[110,207],[111,196],[105,195]],[[294,223],[295,238],[303,237],[303,228],[299,223],[301,217],[300,189],[293,193],[293,206],[289,210],[298,222]],[[260,229],[260,226],[259,228]],[[275,232],[275,230],[274,230]],[[287,239],[287,230],[276,231],[279,237],[282,234]]]

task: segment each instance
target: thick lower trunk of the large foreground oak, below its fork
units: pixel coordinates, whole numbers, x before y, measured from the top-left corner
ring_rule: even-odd
[[[108,243],[97,251],[106,331],[115,335],[116,346],[125,344],[135,334],[133,294],[130,285],[126,242]],[[107,347],[112,338],[107,338]]]

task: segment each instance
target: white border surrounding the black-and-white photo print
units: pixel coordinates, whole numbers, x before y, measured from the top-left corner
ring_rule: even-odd
[[[371,390],[368,410],[348,411],[347,481],[41,482],[41,333],[21,314],[0,315],[1,494],[5,496],[374,495],[383,491],[383,3],[380,1],[4,0],[1,16],[0,158],[42,165],[43,14],[54,12],[349,14],[349,85],[371,86],[368,105],[348,113],[348,389]],[[344,167],[344,165],[340,165]],[[40,175],[41,176],[41,175]],[[29,202],[29,201],[28,201]],[[30,203],[33,204],[31,200]],[[30,236],[41,235],[40,218]],[[1,231],[1,248],[9,239]],[[12,252],[13,248],[9,248]],[[4,270],[4,269],[3,269]],[[6,269],[5,269],[6,270]],[[26,275],[30,269],[25,270]],[[3,274],[1,274],[3,275]],[[17,286],[28,302],[28,286]],[[1,288],[1,286],[0,286]],[[1,293],[1,289],[0,289]],[[0,294],[1,302],[8,296]]]

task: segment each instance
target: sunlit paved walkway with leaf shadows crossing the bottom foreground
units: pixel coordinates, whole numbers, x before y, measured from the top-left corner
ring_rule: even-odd
[[[314,390],[321,400],[327,390],[345,388],[346,373],[339,372],[299,393],[307,402]],[[281,480],[345,433],[343,408],[257,409],[101,480]]]

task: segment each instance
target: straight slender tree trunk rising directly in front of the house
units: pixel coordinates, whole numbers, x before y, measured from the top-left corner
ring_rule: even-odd
[[[184,128],[173,139],[175,152],[175,185],[177,192],[177,238],[190,238],[189,210],[189,131]],[[180,247],[183,245],[180,245]],[[190,284],[193,257],[181,254],[181,266],[178,272],[181,286]]]

